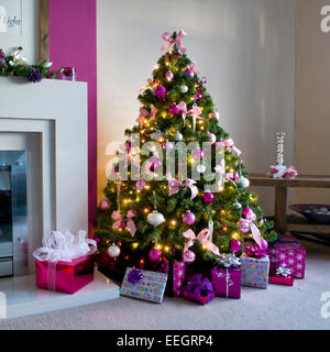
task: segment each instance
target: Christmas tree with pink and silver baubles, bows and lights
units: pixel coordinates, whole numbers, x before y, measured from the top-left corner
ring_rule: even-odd
[[[275,239],[221,118],[186,55],[185,32],[164,33],[166,53],[140,89],[136,124],[117,152],[100,202],[99,252],[141,267],[162,257],[197,265]]]

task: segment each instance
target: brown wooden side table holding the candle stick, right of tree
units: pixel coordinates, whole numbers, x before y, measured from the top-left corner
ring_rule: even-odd
[[[288,218],[287,210],[287,188],[330,188],[330,176],[298,176],[295,179],[272,178],[265,174],[251,174],[251,186],[275,187],[275,230],[279,233],[286,231],[304,231],[330,233],[329,224],[308,223],[305,219]]]

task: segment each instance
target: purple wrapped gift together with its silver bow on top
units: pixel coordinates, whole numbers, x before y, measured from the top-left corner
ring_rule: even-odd
[[[241,298],[240,260],[232,254],[221,255],[219,266],[211,271],[216,296]]]

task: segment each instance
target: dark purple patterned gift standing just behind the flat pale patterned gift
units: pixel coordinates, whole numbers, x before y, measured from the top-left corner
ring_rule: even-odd
[[[165,260],[164,266],[165,273],[168,274],[166,295],[180,297],[186,283],[187,265],[184,262]]]

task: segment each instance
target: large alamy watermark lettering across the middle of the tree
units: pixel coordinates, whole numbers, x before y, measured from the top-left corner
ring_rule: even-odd
[[[201,147],[197,142],[186,144],[182,141],[174,143],[165,140],[157,141],[157,139],[141,144],[140,133],[131,134],[129,142],[110,143],[106,154],[113,155],[117,148],[119,154],[106,167],[109,180],[143,178],[144,180],[170,182],[177,174],[179,180],[198,182],[202,175],[204,180],[208,183],[205,185],[206,190],[212,193],[221,191],[226,178],[230,179],[231,176],[224,164],[226,148],[237,155],[240,154],[232,140],[213,144],[204,142]],[[142,157],[145,161],[141,165]]]

